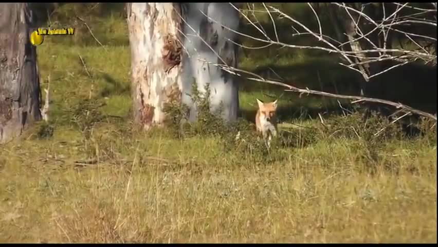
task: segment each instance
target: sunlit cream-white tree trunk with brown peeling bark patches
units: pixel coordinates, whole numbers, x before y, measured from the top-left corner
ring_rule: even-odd
[[[180,94],[180,8],[178,3],[127,7],[134,119],[149,129],[165,120],[164,104]]]

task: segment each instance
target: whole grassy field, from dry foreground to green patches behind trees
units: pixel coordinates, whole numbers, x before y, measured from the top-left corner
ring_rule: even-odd
[[[123,29],[120,17],[105,18]],[[107,50],[58,37],[38,47],[50,123],[0,147],[0,242],[436,243],[436,127],[407,137],[378,117],[325,113],[336,101],[284,94],[283,142],[270,151],[251,131],[236,142],[234,133],[143,133],[130,117],[130,48],[120,32],[105,34],[110,21],[90,24]],[[324,61],[287,56],[291,69]],[[330,66],[323,80],[352,77],[330,79]],[[244,116],[255,97],[281,95],[242,83]]]

